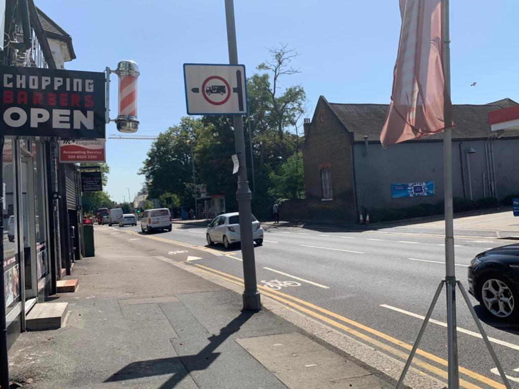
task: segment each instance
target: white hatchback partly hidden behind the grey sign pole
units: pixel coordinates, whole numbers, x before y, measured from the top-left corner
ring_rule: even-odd
[[[263,244],[263,228],[252,216],[252,240],[258,246]],[[206,239],[209,245],[223,243],[225,248],[240,241],[240,217],[238,212],[216,216],[207,226]]]

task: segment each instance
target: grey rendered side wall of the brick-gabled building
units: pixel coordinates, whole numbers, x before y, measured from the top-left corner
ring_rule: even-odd
[[[465,197],[469,198],[467,156],[465,150],[473,147],[470,154],[470,175],[474,200],[489,196],[488,183],[483,183],[487,174],[485,159],[486,140],[453,142],[453,194],[463,197],[459,145],[463,159]],[[496,189],[499,199],[519,193],[519,140],[498,139],[494,141]],[[443,144],[436,141],[412,141],[388,147],[362,144],[355,147],[355,169],[359,207],[366,209],[402,208],[421,203],[438,203],[443,200]],[[391,184],[433,181],[435,195],[415,198],[391,198]],[[485,185],[485,196],[483,186]]]

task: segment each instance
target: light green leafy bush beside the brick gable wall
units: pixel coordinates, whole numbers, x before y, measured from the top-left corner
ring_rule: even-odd
[[[278,170],[278,173],[270,173],[270,195],[283,199],[301,199],[305,194],[303,154],[298,152],[290,156]]]

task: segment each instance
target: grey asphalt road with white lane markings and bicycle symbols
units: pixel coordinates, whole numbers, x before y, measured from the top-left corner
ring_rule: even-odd
[[[116,231],[140,232],[138,227],[112,227]],[[204,227],[174,224],[171,232],[152,234],[160,239],[207,246]],[[297,304],[318,311],[321,321],[335,325],[370,343],[375,349],[401,358],[399,341],[413,344],[434,291],[444,275],[444,244],[441,236],[402,233],[398,229],[337,232],[303,228],[270,227],[264,245],[255,248],[257,281],[295,298]],[[136,239],[136,238],[133,238]],[[488,238],[457,238],[457,277],[467,287],[467,266],[475,254],[511,241]],[[144,243],[143,244],[147,244]],[[239,247],[190,261],[192,265],[222,276],[241,278]],[[236,279],[236,278],[235,278]],[[290,281],[289,283],[286,283]],[[278,291],[275,297],[282,299]],[[292,299],[294,300],[294,299]],[[458,293],[458,342],[461,387],[504,388],[494,373],[495,365],[483,340],[477,337],[470,312]],[[504,369],[519,388],[519,325],[504,324],[485,314],[471,296],[476,312]],[[317,307],[317,308],[316,308]],[[324,317],[324,318],[323,318]],[[432,314],[420,344],[419,367],[436,378],[446,371],[447,358],[445,293]],[[344,328],[343,328],[344,327]],[[360,334],[360,335],[359,335]],[[440,371],[438,370],[440,369]],[[514,371],[515,370],[515,371]]]

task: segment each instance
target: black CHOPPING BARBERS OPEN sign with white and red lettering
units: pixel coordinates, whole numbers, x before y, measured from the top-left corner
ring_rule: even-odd
[[[105,137],[104,73],[0,66],[0,135]]]

